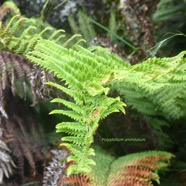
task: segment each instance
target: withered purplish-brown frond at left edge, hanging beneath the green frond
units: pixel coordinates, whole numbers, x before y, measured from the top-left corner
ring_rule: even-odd
[[[13,95],[26,99],[30,94],[33,104],[49,95],[50,90],[45,83],[53,76],[20,55],[0,51],[0,111],[8,117],[5,111],[5,89],[10,87]],[[30,91],[31,90],[31,91]],[[30,93],[31,92],[31,93]]]

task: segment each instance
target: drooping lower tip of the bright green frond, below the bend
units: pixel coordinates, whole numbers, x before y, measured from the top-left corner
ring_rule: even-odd
[[[85,169],[85,167],[89,167],[89,164],[86,164],[86,162],[92,162],[91,159],[89,159],[89,156],[91,155],[89,153],[89,150],[91,148],[89,147],[93,142],[93,135],[95,134],[96,129],[98,128],[98,122],[100,119],[105,118],[110,113],[117,112],[119,109],[123,110],[123,104],[119,104],[117,99],[115,100],[114,98],[108,98],[105,95],[103,95],[102,98],[99,98],[98,96],[95,98],[87,96],[87,99],[82,101],[81,105],[79,103],[75,105],[75,103],[72,104],[62,99],[55,99],[54,101],[61,102],[63,104],[65,103],[65,105],[69,109],[72,109],[72,111],[54,110],[51,113],[61,113],[67,115],[68,117],[76,121],[71,122],[71,124],[70,122],[62,122],[56,126],[57,132],[68,133],[69,136],[62,138],[62,141],[65,142],[62,143],[62,145],[66,146],[67,148],[70,148],[69,150],[72,153],[74,152],[74,156],[69,157],[68,160],[74,160],[75,162],[77,162],[77,165],[69,167],[67,174],[71,173],[69,171],[72,171],[72,173],[73,171],[75,171],[74,173],[78,173],[78,170],[90,171],[91,169]],[[74,107],[72,108],[73,105]],[[111,105],[112,110],[107,110]],[[77,110],[78,106],[79,110]],[[78,134],[78,132],[80,132],[80,134]],[[72,143],[73,146],[69,146],[67,142]],[[73,147],[76,147],[76,149],[79,149],[81,147],[83,150],[78,150],[77,153],[77,151],[73,149]]]

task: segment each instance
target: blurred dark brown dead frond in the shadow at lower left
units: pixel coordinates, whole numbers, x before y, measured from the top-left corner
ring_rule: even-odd
[[[2,118],[6,144],[12,151],[17,166],[16,175],[22,180],[26,175],[36,176],[37,164],[45,161],[45,140],[38,122],[34,119],[28,101],[6,93],[8,118]],[[22,111],[24,110],[24,112]],[[28,172],[25,173],[25,166]],[[29,169],[28,169],[29,167]]]

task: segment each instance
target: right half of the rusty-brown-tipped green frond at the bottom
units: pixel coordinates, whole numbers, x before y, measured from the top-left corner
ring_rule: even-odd
[[[173,155],[161,151],[130,154],[115,160],[108,176],[108,185],[147,185],[159,183],[157,171],[166,168]]]

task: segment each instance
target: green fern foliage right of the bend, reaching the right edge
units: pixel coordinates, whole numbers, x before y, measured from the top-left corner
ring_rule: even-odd
[[[185,116],[178,99],[185,97],[185,51],[172,58],[150,58],[127,71],[118,72],[113,89],[145,115],[167,119]],[[123,76],[123,77],[122,77]]]

